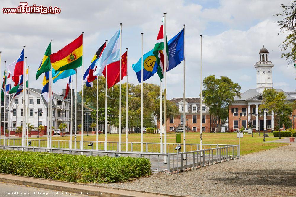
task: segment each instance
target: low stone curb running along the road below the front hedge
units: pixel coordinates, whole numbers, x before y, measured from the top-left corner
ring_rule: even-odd
[[[3,183],[12,183],[16,185],[25,185],[36,188],[43,188],[49,190],[56,191],[64,191],[64,192],[72,192],[76,194],[83,194],[89,196],[174,196],[181,197],[178,195],[169,195],[164,193],[153,193],[153,192],[145,192],[138,190],[130,190],[130,189],[122,189],[122,188],[112,188],[112,187],[104,187],[104,186],[96,186],[85,183],[71,183],[66,181],[57,181],[50,179],[42,179],[42,178],[32,178],[25,177],[19,175],[10,175],[10,174],[2,174],[0,173],[0,182]]]

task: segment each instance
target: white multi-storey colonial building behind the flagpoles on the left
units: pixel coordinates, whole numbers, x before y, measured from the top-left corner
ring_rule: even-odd
[[[29,123],[33,127],[37,128],[39,125],[47,125],[47,102],[41,95],[40,89],[29,88]],[[22,93],[17,95],[14,99],[11,99],[10,106],[8,105],[7,96],[7,114],[9,117],[6,118],[6,124],[9,122],[11,130],[15,130],[16,127],[22,126],[23,124],[23,100]],[[3,104],[2,104],[3,106]],[[53,93],[53,105],[52,105],[52,126],[59,128],[61,123],[65,123],[69,126],[70,116],[69,110],[70,101]],[[42,113],[41,113],[42,112]],[[7,125],[8,126],[8,125]],[[65,129],[65,132],[68,128]]]

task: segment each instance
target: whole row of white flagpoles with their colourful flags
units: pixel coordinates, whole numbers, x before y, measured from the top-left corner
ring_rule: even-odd
[[[166,13],[163,15],[163,22],[160,27],[160,31],[157,36],[157,41],[155,44],[155,47],[153,50],[149,51],[148,53],[144,54],[144,33],[141,33],[141,40],[142,40],[142,55],[139,61],[141,63],[133,64],[133,69],[137,74],[139,82],[141,82],[141,152],[143,152],[143,81],[149,79],[151,76],[153,76],[154,73],[157,73],[160,77],[160,143],[161,143],[161,152],[167,153],[167,132],[166,132],[166,117],[167,117],[167,110],[166,110],[166,97],[167,97],[167,87],[166,87],[166,72],[170,69],[176,67],[178,64],[180,64],[181,61],[183,61],[183,120],[186,121],[186,97],[185,97],[185,25],[183,25],[183,30],[179,32],[174,38],[172,38],[169,42],[167,42],[166,38]],[[72,128],[73,128],[73,83],[72,81],[72,75],[75,74],[75,119],[74,119],[74,149],[76,150],[76,141],[77,141],[77,68],[81,66],[82,73],[84,73],[84,65],[83,65],[83,35],[84,32],[82,32],[81,36],[79,36],[77,39],[75,39],[72,43],[68,44],[61,50],[57,51],[57,53],[52,53],[52,41],[50,42],[45,54],[44,58],[41,61],[41,64],[38,68],[38,71],[36,73],[36,79],[44,73],[44,80],[43,85],[44,88],[42,90],[42,95],[47,100],[48,105],[48,120],[47,120],[47,147],[51,148],[51,130],[52,130],[52,83],[54,83],[58,79],[69,77],[69,81],[67,84],[67,91],[66,96],[68,94],[69,89],[71,89],[71,118],[70,118],[70,149],[72,149]],[[202,37],[201,37],[202,39]],[[82,79],[82,90],[81,90],[81,141],[83,144],[83,131],[84,131],[84,80],[86,81],[86,86],[92,86],[92,81],[94,79],[98,79],[97,76],[100,76],[101,74],[104,74],[105,76],[105,146],[104,149],[107,151],[107,91],[108,88],[112,87],[114,84],[119,82],[119,151],[121,151],[121,126],[122,126],[122,117],[121,117],[121,108],[122,108],[122,78],[123,76],[126,76],[127,79],[127,86],[126,86],[126,151],[128,151],[128,73],[127,73],[127,59],[128,59],[128,48],[126,48],[126,53],[122,55],[122,23],[120,23],[120,29],[115,33],[115,35],[110,39],[109,43],[107,44],[107,40],[104,42],[104,44],[98,49],[96,54],[94,55],[94,58],[91,61],[91,65],[86,70],[83,79]],[[168,44],[171,43],[174,44],[175,48],[168,47]],[[178,45],[181,45],[181,48]],[[201,45],[202,49],[202,45]],[[174,64],[169,64],[169,58],[171,57],[170,54],[175,54],[176,51],[178,51],[178,56],[180,57],[174,57]],[[153,54],[152,54],[153,53]],[[151,70],[150,73],[147,72],[147,69],[144,66],[144,56],[145,58],[149,55],[154,55],[156,60],[153,63],[153,71]],[[1,68],[1,56],[2,53],[0,52],[0,68]],[[175,54],[176,55],[176,54]],[[9,80],[12,79],[12,75],[14,76],[14,82],[15,86],[18,85],[18,91],[15,93],[13,98],[16,95],[19,95],[20,92],[23,92],[23,103],[24,103],[24,113],[23,113],[23,135],[22,135],[22,146],[28,145],[28,132],[29,130],[29,122],[28,122],[28,105],[29,105],[29,99],[28,99],[28,73],[26,73],[26,67],[27,70],[29,69],[29,66],[26,64],[27,58],[25,57],[25,46],[21,53],[21,56],[18,60],[16,60],[14,64],[14,72],[12,72],[12,69],[9,69]],[[177,58],[177,59],[176,59]],[[22,62],[22,65],[19,63]],[[12,63],[13,64],[13,63]],[[119,64],[119,65],[118,65]],[[124,64],[124,70],[122,70],[122,64]],[[119,66],[119,80],[118,76],[117,78],[112,82],[110,81],[110,84],[108,82],[108,67],[111,68],[111,74],[114,74],[115,70]],[[139,66],[141,69],[139,69]],[[10,66],[11,67],[11,66]],[[19,68],[23,69],[21,72]],[[114,69],[115,68],[115,69]],[[144,68],[145,68],[145,79],[144,76]],[[123,71],[123,72],[122,72]],[[141,72],[140,72],[141,71]],[[22,74],[22,75],[21,75]],[[110,74],[110,76],[112,76]],[[5,61],[5,73],[4,73],[4,95],[6,95],[6,61]],[[0,76],[1,76],[1,69],[0,69]],[[17,76],[17,77],[16,77]],[[19,79],[19,76],[20,79]],[[139,77],[140,76],[140,77]],[[162,79],[164,81],[164,91],[163,90],[163,84]],[[17,81],[18,80],[18,81]],[[113,80],[113,79],[112,79]],[[201,52],[201,99],[200,99],[200,122],[202,123],[202,52]],[[25,82],[24,82],[25,81]],[[25,90],[23,90],[23,85],[25,84]],[[9,90],[11,90],[11,84],[9,84]],[[71,87],[71,88],[70,88]],[[98,134],[99,134],[99,81],[97,80],[97,97],[96,97],[96,149],[98,149]],[[2,87],[3,89],[3,87]],[[164,109],[162,108],[162,98],[163,98],[163,92],[164,92]],[[65,99],[64,98],[64,99]],[[10,111],[10,94],[9,94],[9,111]],[[6,111],[6,100],[4,102],[4,132],[5,132],[5,111]],[[164,117],[163,117],[163,111],[164,111]],[[0,111],[1,115],[1,111]],[[164,125],[162,125],[164,118]],[[8,126],[9,127],[9,126]],[[10,129],[10,127],[9,127]],[[186,126],[184,124],[183,126],[183,151],[186,151]],[[10,133],[10,132],[9,132]],[[164,136],[163,136],[164,134]],[[163,141],[164,137],[164,141]],[[164,142],[164,146],[163,146]],[[200,124],[200,148],[202,149],[202,124]],[[5,145],[5,135],[4,135],[4,145]],[[8,141],[9,145],[9,141]],[[81,150],[83,150],[83,145],[81,146]],[[83,151],[81,151],[81,154],[83,154]],[[166,163],[166,158],[165,158]]]

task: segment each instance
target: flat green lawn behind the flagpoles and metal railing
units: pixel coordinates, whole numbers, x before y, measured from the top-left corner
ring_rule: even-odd
[[[183,133],[181,133],[181,136]],[[278,138],[274,138],[272,133],[268,133],[269,137],[265,138],[266,141],[272,141],[276,140]],[[108,141],[118,141],[119,139],[119,134],[108,134]],[[37,139],[37,138],[32,138],[32,139]],[[46,137],[41,137],[39,139],[46,139]],[[183,138],[182,138],[183,139]],[[61,136],[53,136],[52,140],[70,140],[70,135],[66,135],[64,137]],[[77,140],[81,140],[81,136],[77,136]],[[104,141],[105,140],[105,135],[100,134],[99,135],[99,141]],[[74,141],[74,136],[73,136],[73,141]],[[94,141],[94,149],[96,149],[96,135],[89,135],[86,136],[84,135],[84,141]],[[122,142],[126,141],[126,134],[122,134]],[[128,141],[129,142],[141,142],[141,134],[138,133],[132,133],[128,135]],[[176,141],[176,136],[175,133],[168,133],[167,134],[167,142],[168,143],[175,143]],[[144,142],[160,142],[160,134],[150,134],[146,133],[144,134]],[[3,142],[2,142],[3,143]],[[1,143],[1,144],[2,144]],[[186,133],[186,144],[199,144],[200,143],[200,134],[199,133]],[[65,143],[60,143],[60,148],[68,148],[69,145],[68,142]],[[74,144],[74,142],[73,142]],[[88,143],[84,144],[84,149],[89,149],[87,147]],[[239,144],[239,139],[236,137],[236,133],[203,133],[203,144]],[[284,143],[263,143],[263,133],[261,133],[261,137],[258,137],[257,133],[254,133],[254,137],[252,138],[252,135],[245,134],[243,138],[241,138],[241,155],[244,154],[249,154],[253,152],[258,152],[262,150],[267,150],[267,149],[272,149],[276,148],[279,146],[285,146],[287,144]],[[41,146],[46,146],[41,145]],[[53,147],[58,147],[57,143],[53,142]],[[78,147],[79,145],[77,145]],[[73,145],[74,147],[74,145]],[[213,148],[213,146],[211,146]],[[110,150],[116,150],[116,144],[108,144],[108,149]],[[160,151],[160,146],[148,146],[148,151]],[[174,145],[168,146],[168,152],[173,152]],[[190,150],[196,150],[196,146],[186,146],[186,151]],[[204,148],[210,148],[210,146],[205,146]],[[103,144],[99,144],[98,149],[104,149]],[[126,145],[125,143],[122,145],[122,150],[126,150]],[[131,150],[131,145],[129,144],[128,150]],[[144,147],[144,151],[146,150],[146,147]],[[133,151],[140,151],[140,145],[139,144],[134,144],[133,145]]]

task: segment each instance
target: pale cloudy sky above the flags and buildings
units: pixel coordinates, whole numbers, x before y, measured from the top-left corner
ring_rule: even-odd
[[[27,1],[33,4],[59,7],[60,14],[3,14],[0,12],[0,51],[2,65],[15,61],[26,46],[30,66],[29,86],[42,89],[41,76],[36,71],[44,52],[53,39],[53,53],[84,33],[84,71],[94,53],[105,40],[122,26],[122,48],[128,48],[128,80],[138,84],[132,69],[141,57],[141,32],[144,33],[144,53],[155,44],[157,33],[166,12],[168,39],[185,25],[186,97],[200,94],[200,35],[202,36],[202,77],[228,76],[242,90],[256,88],[254,64],[259,50],[265,45],[269,60],[274,64],[273,87],[295,91],[295,69],[281,58],[279,45],[286,34],[279,34],[276,16],[282,10],[281,0],[72,0]],[[1,0],[1,8],[19,6],[20,1]],[[3,67],[3,66],[2,66]],[[2,68],[3,73],[4,67]],[[82,68],[78,69],[78,89],[81,89]],[[67,86],[67,79],[53,85],[59,92]],[[75,82],[75,80],[74,80]],[[123,83],[126,78],[123,79]],[[160,84],[157,74],[145,81]],[[74,83],[75,84],[75,83]],[[73,84],[73,85],[74,85]],[[183,62],[167,73],[167,98],[183,97]]]

